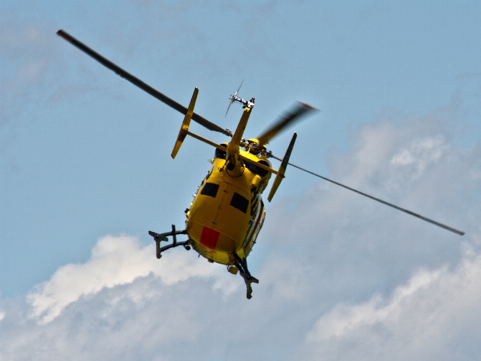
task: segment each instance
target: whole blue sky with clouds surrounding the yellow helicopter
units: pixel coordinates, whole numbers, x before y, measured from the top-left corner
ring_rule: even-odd
[[[479,2],[0,3],[0,357],[471,360],[481,353]],[[246,137],[320,111],[241,277],[148,231],[178,229],[213,149],[63,29]],[[192,123],[215,142],[225,136]],[[274,166],[279,166],[274,160]]]

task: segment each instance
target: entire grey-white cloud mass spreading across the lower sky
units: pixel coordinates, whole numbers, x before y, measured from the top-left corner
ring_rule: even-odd
[[[268,209],[251,300],[242,278],[193,251],[159,261],[153,244],[107,236],[25,304],[2,300],[3,359],[472,359],[481,148],[456,148],[433,115],[357,139],[333,157],[333,178],[466,235],[316,185]]]

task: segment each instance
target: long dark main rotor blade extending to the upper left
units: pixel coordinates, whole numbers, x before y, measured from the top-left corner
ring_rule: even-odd
[[[153,97],[157,98],[161,102],[167,104],[169,107],[177,110],[178,112],[180,112],[184,115],[187,113],[186,107],[184,107],[183,105],[180,105],[176,101],[170,99],[169,97],[167,97],[164,94],[160,93],[159,91],[155,90],[150,85],[145,84],[143,81],[134,77],[132,74],[127,73],[125,70],[118,67],[117,65],[112,63],[110,60],[104,58],[102,55],[94,52],[92,49],[87,47],[85,44],[79,42],[77,39],[75,39],[71,35],[67,34],[63,30],[59,30],[57,32],[57,35],[61,36],[62,38],[64,38],[68,42],[72,43],[74,46],[76,46],[77,48],[82,50],[84,53],[90,55],[92,58],[94,58],[95,60],[97,60],[99,63],[106,66],[110,70],[113,70],[116,74],[120,75],[122,78],[127,79],[132,84],[138,86],[140,89],[146,91],[147,93],[149,93]],[[227,130],[222,129],[218,125],[215,125],[214,123],[209,122],[207,119],[201,117],[200,115],[198,115],[196,113],[192,114],[192,120],[199,123],[200,125],[206,127],[209,130],[217,131],[219,133],[222,133],[222,134],[225,134],[225,135],[228,135],[228,136],[232,136],[232,134],[230,134],[230,132],[228,132]]]

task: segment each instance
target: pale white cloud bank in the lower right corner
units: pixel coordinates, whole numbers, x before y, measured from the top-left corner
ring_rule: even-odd
[[[481,255],[471,254],[453,271],[419,271],[389,298],[336,306],[306,343],[310,356],[320,359],[454,359],[453,344],[481,335],[480,306]]]

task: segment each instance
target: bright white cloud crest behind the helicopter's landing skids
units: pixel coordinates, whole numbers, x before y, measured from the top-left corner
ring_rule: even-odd
[[[91,259],[84,264],[68,264],[59,268],[49,281],[32,291],[28,303],[32,317],[50,322],[70,303],[81,296],[99,292],[104,287],[132,283],[138,277],[153,274],[166,285],[173,285],[190,277],[216,277],[214,289],[230,294],[237,289],[225,281],[223,267],[212,266],[193,252],[176,252],[157,260],[154,245],[142,247],[132,237],[106,236],[92,250]],[[135,300],[139,295],[132,294]]]

